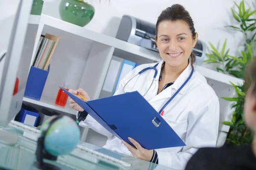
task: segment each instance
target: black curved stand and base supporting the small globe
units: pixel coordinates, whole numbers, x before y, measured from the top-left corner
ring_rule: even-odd
[[[51,161],[56,161],[57,160],[57,156],[53,156],[52,154],[48,153],[45,148],[44,148],[44,139],[46,136],[46,133],[49,129],[49,127],[51,127],[51,125],[53,124],[53,122],[55,122],[57,119],[61,118],[62,116],[57,116],[54,119],[52,119],[49,122],[48,127],[45,128],[45,130],[43,131],[42,135],[38,138],[38,143],[37,143],[37,148],[35,151],[35,155],[36,155],[36,161],[34,163],[34,166],[41,169],[41,170],[61,170],[59,167],[52,165],[52,164],[48,164],[46,162],[44,162],[44,159],[48,159]]]

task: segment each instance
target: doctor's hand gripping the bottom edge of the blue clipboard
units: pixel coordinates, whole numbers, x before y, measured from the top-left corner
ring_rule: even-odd
[[[132,153],[132,155],[135,158],[143,159],[145,161],[150,161],[153,156],[153,150],[146,150],[143,147],[140,146],[138,142],[136,142],[134,139],[128,138],[129,141],[134,144],[133,147],[131,144],[128,144],[127,142],[122,140],[122,143],[128,148],[128,150]]]

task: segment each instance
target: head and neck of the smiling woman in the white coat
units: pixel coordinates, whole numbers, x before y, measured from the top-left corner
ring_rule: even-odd
[[[162,75],[163,80],[159,82],[158,93],[169,82],[174,82],[189,62],[193,66],[195,54],[192,48],[198,40],[194,23],[189,12],[178,4],[166,8],[158,17],[156,24],[155,40],[160,56],[166,62]]]

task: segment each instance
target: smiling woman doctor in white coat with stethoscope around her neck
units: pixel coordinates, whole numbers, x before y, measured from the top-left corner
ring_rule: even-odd
[[[179,4],[166,8],[158,17],[155,37],[163,60],[134,68],[120,81],[114,94],[138,91],[163,116],[186,146],[146,150],[129,138],[136,146],[133,147],[113,136],[90,115],[84,117],[79,125],[107,136],[105,148],[173,169],[184,169],[199,147],[215,147],[219,101],[206,79],[194,68],[195,54],[192,53],[192,48],[197,39],[198,34],[195,33],[189,12]],[[151,68],[137,75],[148,67],[154,67],[155,70]],[[156,77],[153,78],[155,73]],[[135,75],[137,76],[134,77]],[[80,93],[90,99],[82,89],[71,89],[70,92]],[[172,101],[166,103],[173,95],[176,96]],[[72,99],[70,106],[79,111],[77,117],[84,111]]]

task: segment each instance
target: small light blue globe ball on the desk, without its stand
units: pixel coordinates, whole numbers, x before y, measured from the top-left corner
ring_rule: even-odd
[[[41,134],[48,127],[49,122],[56,116],[51,116],[41,126]],[[49,127],[44,148],[53,156],[66,155],[72,152],[80,140],[80,129],[76,122],[68,116],[57,119]]]

